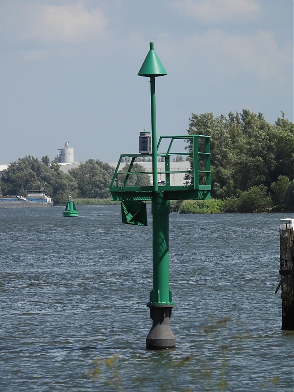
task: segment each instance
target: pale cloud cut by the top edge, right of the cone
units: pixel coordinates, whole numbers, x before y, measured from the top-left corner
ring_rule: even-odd
[[[173,6],[189,18],[209,23],[252,18],[260,9],[255,0],[177,0]]]

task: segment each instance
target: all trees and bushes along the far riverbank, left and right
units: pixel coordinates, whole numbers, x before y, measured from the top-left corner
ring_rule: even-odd
[[[272,125],[262,113],[230,112],[227,117],[213,113],[192,113],[189,135],[211,136],[211,200],[184,200],[171,203],[180,213],[291,212],[294,208],[294,124],[281,118]],[[186,149],[190,151],[187,140]],[[201,145],[199,146],[201,148]],[[188,155],[191,160],[192,156]],[[127,170],[128,163],[123,168]],[[144,172],[139,163],[135,171]],[[27,190],[44,188],[54,204],[65,204],[69,194],[76,204],[108,204],[109,184],[114,168],[98,159],[89,159],[65,174],[48,156],[32,156],[11,162],[0,177],[0,194],[25,195]],[[193,178],[186,176],[189,182]],[[118,181],[120,176],[118,176]],[[129,177],[132,186],[150,185],[148,174]]]

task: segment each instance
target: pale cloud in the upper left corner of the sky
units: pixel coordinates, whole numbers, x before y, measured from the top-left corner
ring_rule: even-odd
[[[103,38],[108,25],[98,6],[88,10],[82,1],[73,5],[19,3],[18,6],[13,15],[7,15],[10,23],[2,25],[6,37],[14,42],[84,43]]]

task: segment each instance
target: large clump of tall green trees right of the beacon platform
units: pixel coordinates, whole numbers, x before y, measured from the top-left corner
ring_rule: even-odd
[[[187,131],[211,136],[212,197],[226,199],[228,211],[293,211],[294,124],[283,113],[274,125],[247,109],[227,118],[192,113]]]

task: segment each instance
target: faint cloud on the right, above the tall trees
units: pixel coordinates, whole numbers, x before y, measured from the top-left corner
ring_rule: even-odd
[[[225,77],[251,74],[259,80],[283,82],[285,70],[293,65],[292,45],[279,47],[273,34],[259,31],[251,35],[229,35],[221,30],[209,30],[194,36],[190,49],[213,61],[215,69]]]

